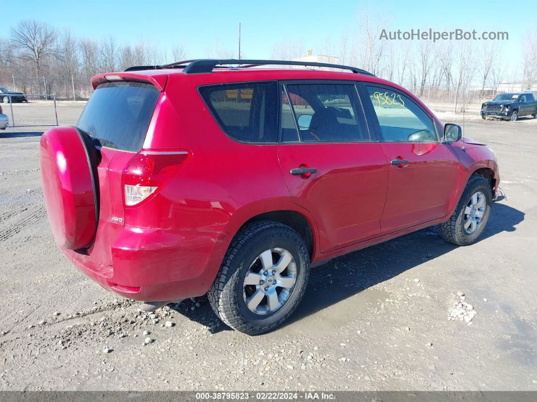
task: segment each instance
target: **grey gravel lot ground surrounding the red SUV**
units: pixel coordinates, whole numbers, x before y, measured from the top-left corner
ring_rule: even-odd
[[[535,133],[466,121],[509,196],[480,242],[429,228],[334,259],[287,325],[248,337],[205,297],[144,313],[78,273],[50,235],[41,132],[0,131],[0,390],[537,390]]]

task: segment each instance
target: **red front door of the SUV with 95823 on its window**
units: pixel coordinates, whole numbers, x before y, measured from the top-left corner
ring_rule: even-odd
[[[381,233],[446,216],[459,180],[459,158],[440,141],[438,123],[393,87],[364,83],[362,91],[389,163]]]

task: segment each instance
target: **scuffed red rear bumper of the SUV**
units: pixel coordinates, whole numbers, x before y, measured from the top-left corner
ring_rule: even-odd
[[[105,289],[155,302],[205,294],[220,268],[229,240],[217,232],[125,226],[112,243],[112,265],[101,262],[97,252],[62,251],[79,271]],[[97,237],[99,241],[102,240]]]

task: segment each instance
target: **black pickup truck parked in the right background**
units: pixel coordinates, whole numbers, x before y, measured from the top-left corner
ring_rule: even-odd
[[[532,93],[502,93],[481,106],[481,117],[516,121],[531,115],[537,119],[537,101]]]

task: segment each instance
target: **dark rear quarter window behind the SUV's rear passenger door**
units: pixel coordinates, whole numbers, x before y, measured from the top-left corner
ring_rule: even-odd
[[[201,97],[224,133],[236,141],[276,142],[278,85],[275,81],[205,85]]]

